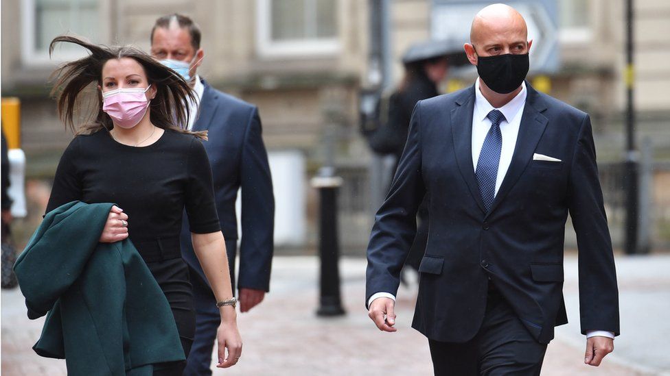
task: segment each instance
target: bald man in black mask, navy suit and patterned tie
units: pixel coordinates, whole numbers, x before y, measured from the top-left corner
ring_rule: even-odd
[[[577,233],[585,362],[598,366],[619,334],[614,257],[588,114],[524,78],[523,17],[489,5],[464,48],[474,86],[417,103],[407,145],[369,243],[367,305],[395,331],[400,268],[428,195],[413,327],[436,375],[539,375],[562,295],[565,223]]]

